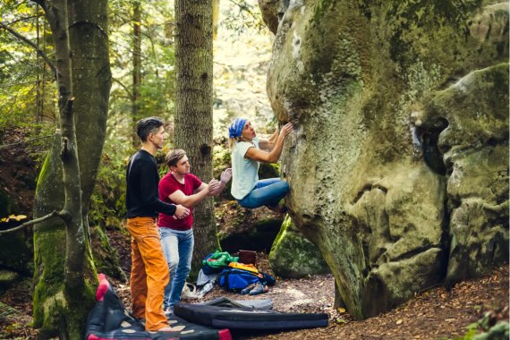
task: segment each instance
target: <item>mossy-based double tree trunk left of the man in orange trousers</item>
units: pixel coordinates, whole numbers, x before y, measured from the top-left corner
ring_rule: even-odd
[[[64,207],[68,218],[34,228],[33,310],[42,336],[74,339],[83,336],[97,285],[86,214],[105,140],[110,72],[106,1],[66,3],[42,3],[55,39],[62,134],[39,174],[34,217]],[[73,94],[73,83],[80,92]]]

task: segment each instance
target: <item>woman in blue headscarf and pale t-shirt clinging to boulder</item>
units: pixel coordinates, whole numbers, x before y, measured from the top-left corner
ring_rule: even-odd
[[[235,118],[228,129],[229,146],[232,149],[232,196],[243,208],[267,206],[277,212],[285,212],[278,201],[290,190],[289,184],[280,178],[259,181],[259,162],[276,163],[282,154],[285,137],[293,131],[293,124],[286,123],[269,140],[259,140],[248,119]],[[269,151],[264,151],[268,149]]]

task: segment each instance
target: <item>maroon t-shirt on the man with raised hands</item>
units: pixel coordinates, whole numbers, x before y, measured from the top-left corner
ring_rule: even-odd
[[[183,191],[183,194],[190,196],[195,190],[200,188],[202,181],[194,174],[184,174],[184,184],[179,183],[172,172],[166,174],[161,181],[159,181],[159,200],[163,200],[167,203],[177,204],[170,200],[168,196],[173,194],[175,191]],[[175,219],[166,214],[159,214],[157,220],[157,226],[167,227],[175,230],[188,230],[193,225],[193,208],[190,208],[190,215],[183,219]]]

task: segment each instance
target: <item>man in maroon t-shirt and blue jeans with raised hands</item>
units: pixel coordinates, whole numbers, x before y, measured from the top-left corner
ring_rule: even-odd
[[[223,191],[225,183],[232,176],[232,170],[226,169],[221,174],[221,181],[212,179],[206,184],[190,173],[190,162],[184,150],[175,149],[169,152],[166,155],[166,164],[170,171],[159,182],[159,199],[167,203],[181,204],[191,211],[190,215],[182,219],[161,213],[157,221],[161,246],[170,269],[164,306],[167,313],[172,313],[174,303],[181,301],[183,286],[191,270],[194,245],[193,207],[206,197]]]

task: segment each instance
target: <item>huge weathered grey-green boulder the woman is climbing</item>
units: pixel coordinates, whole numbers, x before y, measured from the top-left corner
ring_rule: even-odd
[[[507,262],[508,2],[282,5],[268,97],[295,127],[286,203],[347,310]]]

